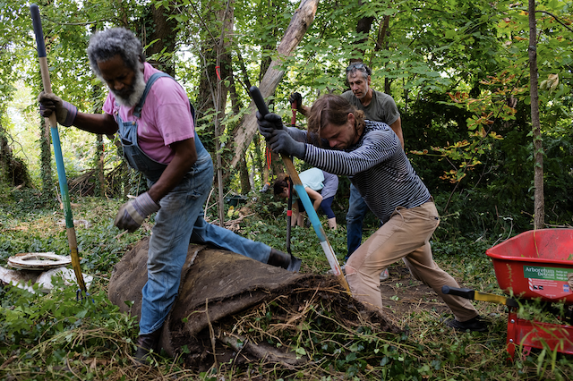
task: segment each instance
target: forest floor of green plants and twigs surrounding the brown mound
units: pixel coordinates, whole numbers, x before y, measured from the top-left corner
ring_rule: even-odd
[[[0,209],[0,266],[21,252],[67,254],[62,210],[33,192],[7,190]],[[107,299],[111,271],[124,253],[150,234],[150,224],[133,234],[122,233],[113,217],[122,201],[73,199],[73,217],[85,274],[92,275],[90,295],[78,299],[74,287],[56,287],[49,294],[0,288],[0,379],[3,380],[540,380],[573,378],[573,356],[549,350],[518,350],[506,361],[507,310],[474,302],[491,322],[486,333],[460,333],[441,319],[449,309],[435,292],[409,275],[402,262],[389,268],[381,283],[385,318],[395,332],[381,330],[369,319],[340,318],[332,303],[306,297],[303,309],[291,310],[278,298],[227,321],[227,332],[241,339],[235,356],[189,368],[184,356],[154,356],[149,366],[133,360],[137,321]],[[269,203],[252,203],[233,212],[234,228],[279,250],[286,249],[285,222],[273,216]],[[278,206],[277,206],[278,207]],[[256,210],[257,213],[252,211]],[[230,215],[231,213],[229,213]],[[209,216],[209,213],[208,213]],[[243,217],[242,217],[243,216]],[[216,217],[213,217],[213,219]],[[85,221],[85,223],[83,222]],[[374,227],[372,227],[374,228]],[[339,259],[346,254],[344,226],[329,232]],[[367,235],[366,233],[365,235]],[[432,241],[434,256],[460,284],[500,293],[485,250],[493,241],[457,236]],[[303,258],[301,272],[325,275],[328,262],[312,229],[295,228],[292,251]],[[213,334],[217,334],[214,332]],[[250,343],[281,349],[295,361],[248,360]]]

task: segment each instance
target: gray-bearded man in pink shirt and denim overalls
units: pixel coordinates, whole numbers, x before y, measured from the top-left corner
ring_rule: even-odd
[[[213,163],[194,126],[184,89],[145,62],[141,42],[115,28],[90,38],[93,72],[107,83],[103,114],[78,112],[54,94],[40,93],[40,114],[56,113],[57,122],[84,131],[119,133],[124,157],[148,180],[149,190],[120,207],[115,225],[133,233],[158,212],[150,238],[148,281],[141,290],[137,360],[158,351],[161,327],[175,301],[189,242],[207,243],[246,257],[298,271],[301,261],[248,240],[203,219],[213,182]]]

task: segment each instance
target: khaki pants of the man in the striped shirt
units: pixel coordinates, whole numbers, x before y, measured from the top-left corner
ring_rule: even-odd
[[[402,258],[410,273],[432,287],[458,321],[475,318],[478,313],[470,301],[441,292],[443,285],[459,285],[433,261],[430,237],[438,224],[440,216],[432,201],[411,209],[397,207],[346,262],[346,281],[355,299],[381,309],[380,273]]]

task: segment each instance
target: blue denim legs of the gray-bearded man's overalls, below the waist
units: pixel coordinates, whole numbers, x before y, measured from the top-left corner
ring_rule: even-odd
[[[213,164],[203,160],[159,201],[148,253],[147,284],[141,290],[140,334],[157,331],[167,318],[177,296],[181,270],[189,242],[215,244],[266,263],[269,246],[247,240],[203,219],[205,203],[213,182]]]

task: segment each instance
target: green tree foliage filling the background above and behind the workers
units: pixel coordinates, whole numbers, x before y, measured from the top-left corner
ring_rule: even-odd
[[[163,52],[157,58],[173,59],[177,79],[197,108],[201,108],[206,101],[197,96],[200,79],[204,77],[203,66],[221,30],[221,22],[214,15],[225,5],[188,1],[180,4],[165,1],[40,4],[53,89],[80,106],[81,111],[89,112],[101,106],[107,90],[93,77],[87,62],[85,48],[90,33],[112,25],[140,31],[140,21],[149,21],[146,16],[150,14],[150,8],[163,6],[169,17],[178,21],[174,38],[179,51],[175,54]],[[250,98],[240,84],[244,85],[246,79],[256,84],[269,60],[277,58],[276,47],[296,6],[282,0],[235,3],[234,35],[227,43],[228,52],[234,55],[232,65],[235,83],[239,84],[236,90],[241,105],[248,105]],[[540,11],[536,14],[540,35],[537,50],[542,85],[540,111],[543,139],[548,143],[545,177],[546,186],[551,190],[546,192],[546,203],[551,206],[547,218],[552,224],[568,224],[571,207],[566,153],[571,136],[569,69],[573,58],[567,25],[571,8],[566,2],[542,1],[537,9]],[[16,149],[18,157],[30,166],[38,185],[40,165],[35,154],[38,147],[30,143],[39,138],[38,132],[30,135],[31,131],[38,131],[38,121],[30,116],[36,114],[33,99],[40,81],[34,41],[30,36],[28,4],[21,1],[7,3],[0,12],[4,21],[0,27],[4,31],[0,34],[4,43],[0,46],[6,53],[0,55],[3,63],[0,89],[5,90],[0,92],[2,104],[14,96],[14,89],[30,93],[29,96],[18,95],[16,102],[18,113],[30,119],[30,125],[7,125],[15,140],[13,146],[23,147]],[[384,16],[389,16],[388,34],[383,37],[382,45],[377,46],[375,41],[379,38]],[[372,27],[367,34],[358,34],[356,24],[364,17],[373,17]],[[397,100],[406,151],[432,194],[459,193],[451,200],[449,197],[444,199],[442,207],[446,214],[457,212],[449,203],[458,198],[467,200],[466,192],[483,192],[483,198],[472,197],[473,201],[483,199],[483,205],[476,206],[476,212],[470,212],[469,216],[482,216],[483,213],[512,216],[516,221],[520,219],[518,228],[525,229],[527,217],[533,210],[530,180],[533,163],[529,158],[529,138],[524,135],[529,121],[528,91],[524,91],[528,83],[527,22],[524,5],[509,1],[498,2],[496,6],[466,0],[439,4],[345,0],[329,6],[321,4],[302,43],[292,57],[285,58],[282,67],[286,74],[273,95],[274,111],[285,119],[290,118],[286,99],[293,90],[303,93],[305,105],[311,105],[316,97],[327,91],[342,92],[346,88],[344,68],[347,63],[350,59],[363,59],[372,66],[372,87],[389,89]],[[151,42],[144,41],[144,44]],[[238,62],[239,52],[244,72]],[[14,86],[17,78],[27,87]],[[211,85],[214,89],[215,83]],[[446,94],[451,94],[455,102]],[[516,106],[504,104],[509,95],[516,98]],[[25,98],[28,101],[21,100]],[[27,104],[31,106],[26,108]],[[456,109],[454,104],[463,107]],[[229,108],[227,105],[227,111]],[[246,110],[243,107],[241,113]],[[213,114],[203,111],[200,116],[204,116],[204,121],[198,130],[203,142],[214,147]],[[224,162],[233,151],[230,131],[239,125],[241,116],[227,113],[220,121],[225,129],[220,138]],[[304,124],[300,115],[298,122]],[[484,133],[490,126],[491,132],[495,133]],[[93,163],[95,140],[78,134],[75,129],[61,129],[61,135],[68,177],[84,174]],[[504,140],[499,141],[500,137]],[[249,168],[257,168],[254,178],[258,185],[255,188],[258,188],[262,185],[262,174],[259,173],[262,165],[251,163],[252,159],[258,163],[261,158],[260,152],[255,150],[254,145],[249,148],[247,161]],[[104,152],[109,172],[120,159],[110,140],[105,140]],[[417,156],[413,153],[426,154]],[[234,174],[233,169],[225,170]],[[131,178],[127,173],[114,180],[114,191],[108,195],[135,194],[145,189],[140,179]],[[456,184],[459,186],[455,188]],[[227,186],[227,183],[226,187],[235,191],[237,188],[236,185]],[[47,186],[47,189],[53,188],[54,184]],[[460,201],[458,206],[462,205]],[[340,211],[338,218],[343,216],[344,211]],[[498,219],[489,218],[488,221],[495,226]],[[482,230],[495,230],[493,226],[483,227],[481,217],[467,222],[471,224],[465,224],[466,229],[460,226],[460,232],[470,232],[480,225]]]

